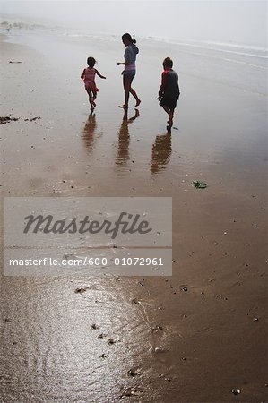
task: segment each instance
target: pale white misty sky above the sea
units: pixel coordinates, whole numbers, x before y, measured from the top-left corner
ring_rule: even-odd
[[[94,32],[267,47],[266,0],[0,0],[1,14]]]

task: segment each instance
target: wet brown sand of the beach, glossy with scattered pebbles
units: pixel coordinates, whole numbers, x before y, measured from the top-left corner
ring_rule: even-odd
[[[2,205],[172,196],[173,275],[8,278],[2,258],[2,401],[267,400],[263,66],[143,40],[142,104],[126,120],[120,42],[23,33],[13,42],[1,41],[1,116],[20,119],[1,126]],[[89,49],[107,76],[95,116],[80,79]],[[171,135],[156,100],[165,56],[179,62],[182,92]]]

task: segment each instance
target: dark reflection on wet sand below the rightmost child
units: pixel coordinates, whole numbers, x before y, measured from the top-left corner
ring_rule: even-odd
[[[171,133],[158,135],[151,148],[151,174],[157,174],[169,162],[171,155]]]

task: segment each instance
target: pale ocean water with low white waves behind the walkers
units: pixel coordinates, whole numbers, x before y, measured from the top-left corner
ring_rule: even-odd
[[[3,30],[4,31],[4,30]],[[40,50],[40,37],[53,37],[79,44],[85,48],[109,47],[118,44],[117,55],[121,56],[123,48],[121,38],[116,34],[103,32],[92,33],[89,30],[35,29],[11,30],[8,41],[30,44]],[[268,49],[252,47],[246,44],[222,43],[215,41],[194,41],[169,38],[136,38],[140,47],[139,63],[151,63],[155,69],[161,68],[162,59],[171,56],[178,73],[194,75],[222,82],[246,91],[267,94]],[[108,45],[110,44],[110,46]],[[45,50],[45,47],[43,47]],[[150,61],[148,60],[150,57]],[[147,60],[146,60],[147,59]]]

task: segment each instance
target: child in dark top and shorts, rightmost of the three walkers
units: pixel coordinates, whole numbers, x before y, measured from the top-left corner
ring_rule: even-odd
[[[173,61],[166,57],[163,61],[164,71],[161,76],[161,86],[159,90],[158,99],[160,100],[160,107],[169,115],[168,127],[170,130],[173,125],[174,111],[177,106],[177,99],[179,99],[179,86],[178,75],[172,69]]]

